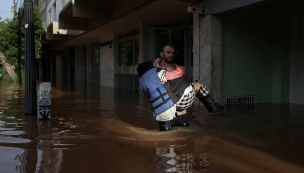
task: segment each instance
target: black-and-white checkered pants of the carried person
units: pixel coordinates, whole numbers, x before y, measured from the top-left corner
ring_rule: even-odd
[[[177,111],[182,111],[182,110],[189,108],[192,105],[192,103],[195,99],[195,96],[197,98],[205,97],[209,93],[208,88],[203,84],[201,85],[201,88],[198,93],[195,93],[194,84],[190,83],[190,85],[192,86],[192,91],[190,91],[188,94],[184,95],[182,97],[182,99],[176,103]]]

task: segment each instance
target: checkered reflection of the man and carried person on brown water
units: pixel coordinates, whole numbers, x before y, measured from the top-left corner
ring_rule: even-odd
[[[204,144],[212,137],[201,139],[171,140],[168,147],[156,147],[153,156],[155,172],[207,172],[209,159]],[[170,143],[169,142],[169,143]]]

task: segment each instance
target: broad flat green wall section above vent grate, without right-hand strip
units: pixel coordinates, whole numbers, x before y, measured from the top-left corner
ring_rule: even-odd
[[[257,102],[272,102],[272,21],[223,16],[223,100],[254,95]]]

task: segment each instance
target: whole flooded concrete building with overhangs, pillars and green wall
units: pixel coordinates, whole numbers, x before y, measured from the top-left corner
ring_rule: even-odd
[[[170,43],[175,63],[202,80],[217,102],[252,96],[257,103],[304,104],[301,0],[34,3],[45,26],[40,66],[50,69],[40,77],[57,88],[138,91],[137,65],[156,59]]]

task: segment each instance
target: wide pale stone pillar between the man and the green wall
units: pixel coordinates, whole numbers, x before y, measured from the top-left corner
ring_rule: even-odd
[[[193,79],[200,79],[222,103],[222,20],[193,15]]]

